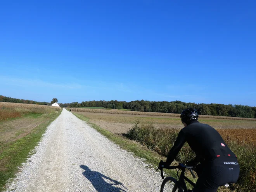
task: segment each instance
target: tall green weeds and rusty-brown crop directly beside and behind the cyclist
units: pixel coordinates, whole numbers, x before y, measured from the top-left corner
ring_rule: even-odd
[[[237,155],[240,164],[240,177],[233,185],[237,191],[255,191],[256,189],[256,130],[255,129],[220,129],[218,130],[230,149]],[[168,153],[175,142],[179,130],[155,128],[152,124],[141,124],[137,121],[126,137],[156,151],[162,156]],[[195,157],[186,143],[176,161],[186,162]]]

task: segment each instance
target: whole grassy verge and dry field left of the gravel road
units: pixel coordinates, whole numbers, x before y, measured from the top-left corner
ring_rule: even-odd
[[[40,142],[61,107],[0,102],[0,191]]]

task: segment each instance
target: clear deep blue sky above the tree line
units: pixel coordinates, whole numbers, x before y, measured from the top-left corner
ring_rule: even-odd
[[[1,1],[0,95],[256,106],[256,2]]]

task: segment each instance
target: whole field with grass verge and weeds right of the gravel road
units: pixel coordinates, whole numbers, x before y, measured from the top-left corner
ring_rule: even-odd
[[[147,116],[133,114],[109,114],[95,112],[73,112],[79,118],[86,120],[101,133],[112,139],[118,145],[126,150],[134,152],[136,156],[143,157],[149,163],[157,164],[156,162],[162,158],[166,159],[170,151],[171,144],[175,141],[178,131],[183,128],[180,118],[167,116]],[[237,185],[234,189],[238,192],[256,191],[256,121],[235,120],[235,119],[211,119],[199,118],[201,123],[207,123],[216,128],[222,135],[228,146],[237,154],[239,158],[241,173]],[[136,122],[140,125],[145,125],[138,132],[132,133],[131,139],[140,142],[149,150],[157,152],[160,156],[154,153],[145,152],[140,145],[129,143],[124,137],[128,135]],[[136,129],[135,129],[136,130]],[[122,136],[123,135],[123,136]],[[138,137],[139,135],[139,137]],[[123,143],[127,146],[123,146]],[[145,155],[146,153],[147,155]],[[152,157],[156,156],[156,157]],[[178,156],[178,161],[190,160],[187,158],[193,157],[193,152],[185,145]],[[157,160],[158,159],[158,160]],[[177,162],[176,162],[177,163]],[[174,173],[169,172],[170,175]],[[231,191],[220,189],[219,191]]]

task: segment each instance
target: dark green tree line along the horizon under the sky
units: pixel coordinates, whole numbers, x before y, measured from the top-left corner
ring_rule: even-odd
[[[37,102],[33,100],[16,99],[12,97],[5,97],[0,95],[0,102],[26,103],[45,105],[48,102]],[[131,102],[126,101],[83,101],[73,103],[59,103],[61,107],[104,107],[108,109],[129,109],[131,111],[145,111],[145,112],[165,112],[165,113],[181,113],[183,109],[194,107],[201,115],[214,116],[231,116],[241,118],[256,118],[256,107],[242,106],[242,105],[224,105],[224,104],[196,104],[185,103],[182,101],[145,101],[136,100]]]

